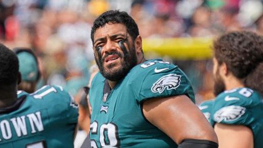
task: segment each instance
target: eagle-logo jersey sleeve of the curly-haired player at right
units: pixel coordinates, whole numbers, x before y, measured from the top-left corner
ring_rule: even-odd
[[[221,93],[215,100],[212,118],[216,123],[249,125],[257,94],[248,88]]]

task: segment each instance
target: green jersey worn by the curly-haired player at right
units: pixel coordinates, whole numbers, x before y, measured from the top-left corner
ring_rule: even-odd
[[[212,109],[215,123],[249,127],[253,132],[254,147],[263,147],[263,103],[254,90],[243,87],[224,91],[216,97]]]

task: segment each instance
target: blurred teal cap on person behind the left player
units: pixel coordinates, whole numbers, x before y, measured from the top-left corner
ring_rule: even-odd
[[[22,75],[22,81],[34,82],[37,79],[37,62],[31,53],[20,52],[17,54],[19,61],[19,71]]]

